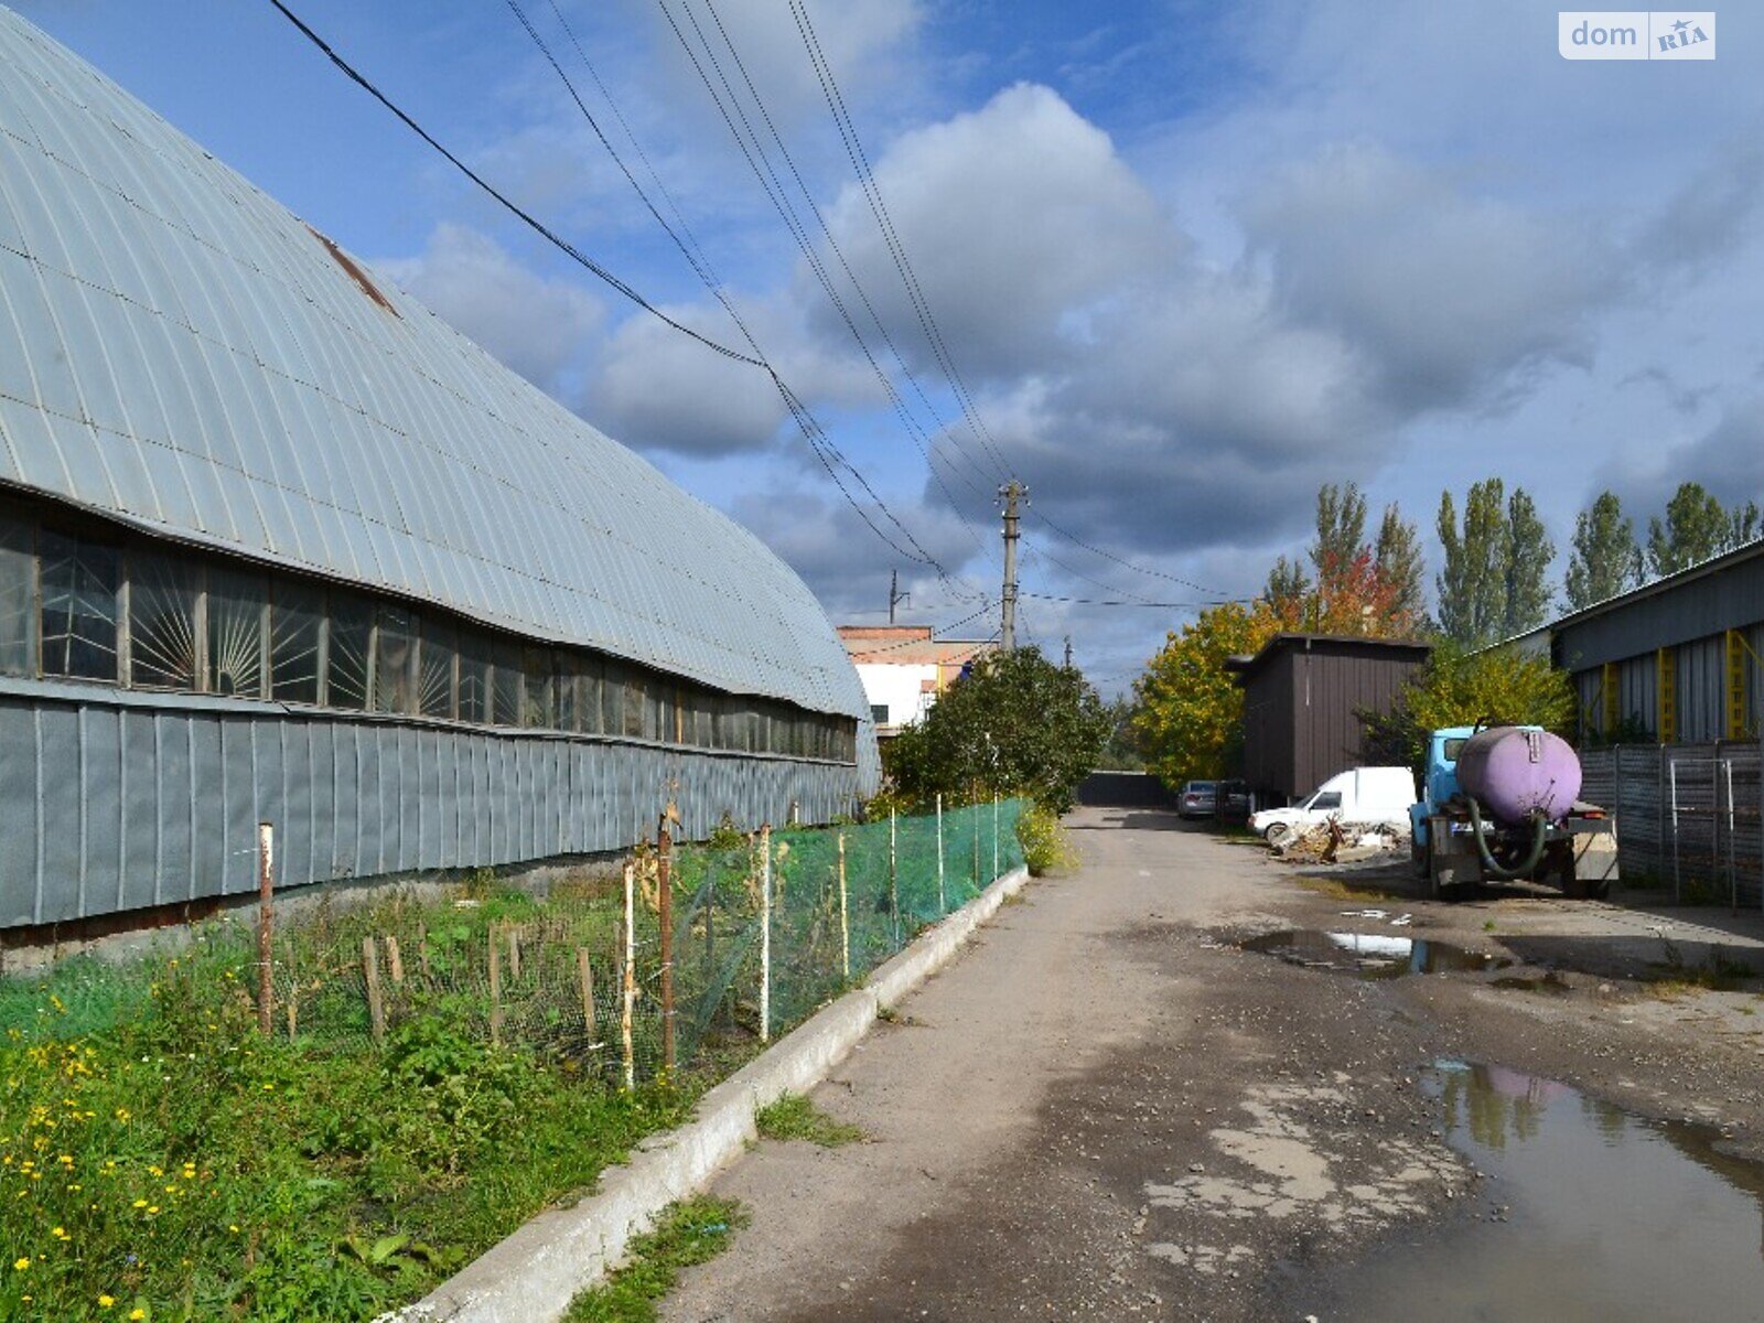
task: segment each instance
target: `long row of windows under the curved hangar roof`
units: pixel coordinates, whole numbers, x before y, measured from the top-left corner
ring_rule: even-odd
[[[402,602],[0,510],[0,674],[856,759],[847,718],[723,693],[575,647],[418,616]]]

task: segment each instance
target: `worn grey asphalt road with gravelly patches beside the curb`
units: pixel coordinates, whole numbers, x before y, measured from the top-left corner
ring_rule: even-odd
[[[665,1319],[1351,1318],[1323,1298],[1342,1263],[1503,1215],[1416,1083],[1441,1053],[1582,1085],[1621,1060],[1632,1106],[1676,1115],[1697,1080],[1736,1124],[1764,1115],[1764,1037],[1667,1050],[1683,1027],[1603,974],[1538,997],[1247,953],[1364,901],[1168,815],[1071,826],[1081,868],[1032,882],[815,1092],[868,1141],[762,1141],[718,1180],[751,1226]],[[1401,931],[1475,946],[1561,903],[1413,907]]]

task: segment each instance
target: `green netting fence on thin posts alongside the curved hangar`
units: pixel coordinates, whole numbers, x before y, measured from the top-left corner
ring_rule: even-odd
[[[669,854],[676,1065],[776,1037],[1018,868],[1021,801],[942,815],[725,833]],[[282,901],[273,937],[273,1032],[314,1051],[360,1051],[420,1016],[559,1057],[609,1083],[663,1069],[660,859],[633,861],[630,926],[619,868],[582,870],[545,894],[485,875],[372,900]],[[766,878],[769,877],[769,891]],[[64,1039],[153,1014],[155,984],[208,981],[254,1011],[245,923],[198,928],[132,961],[81,956],[0,977],[0,1034]]]

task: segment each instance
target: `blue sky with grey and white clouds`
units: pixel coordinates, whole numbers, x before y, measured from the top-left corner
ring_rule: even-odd
[[[748,522],[834,619],[875,621],[900,570],[908,619],[993,628],[1005,469],[1034,503],[1027,632],[1053,653],[1071,633],[1108,690],[1187,612],[1053,598],[1205,600],[1177,580],[1249,594],[1304,543],[1319,482],[1399,503],[1429,542],[1441,489],[1524,485],[1561,547],[1558,582],[1573,515],[1603,487],[1641,517],[1683,478],[1764,497],[1755,7],[1718,12],[1715,62],[1572,64],[1556,9],[1524,0],[810,0],[933,346],[789,0],[559,4],[610,106],[550,0],[520,0],[767,358],[946,573],[866,527],[764,376],[522,231],[266,2],[18,7]],[[572,243],[739,339],[503,0],[295,7]],[[806,252],[686,48],[720,56],[757,125],[764,106],[801,175],[796,191],[762,139]]]

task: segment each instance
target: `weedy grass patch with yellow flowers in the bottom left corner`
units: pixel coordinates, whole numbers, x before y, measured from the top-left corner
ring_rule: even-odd
[[[0,1318],[370,1318],[677,1125],[720,1065],[623,1094],[593,1060],[492,1046],[467,993],[413,997],[385,1046],[266,1039],[254,972],[198,930],[0,981]]]

